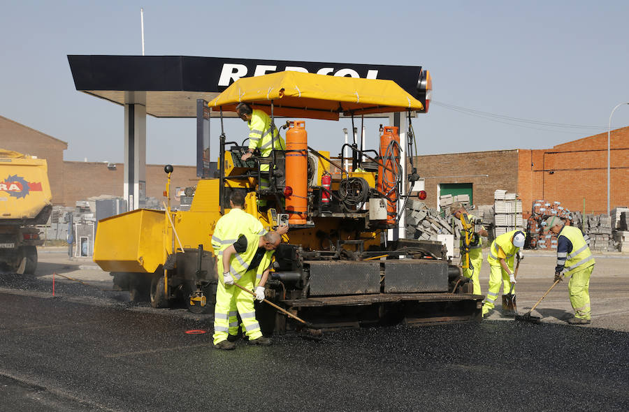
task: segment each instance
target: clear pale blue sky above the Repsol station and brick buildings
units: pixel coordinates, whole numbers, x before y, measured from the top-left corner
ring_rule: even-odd
[[[66,56],[141,54],[140,7],[147,55],[428,68],[435,104],[413,123],[422,154],[552,147],[607,131],[629,101],[629,1],[3,0],[0,115],[68,142],[66,160],[122,161],[122,107],[76,91]],[[623,106],[612,127],[628,124]],[[311,145],[333,153],[350,127],[310,125]],[[147,163],[194,164],[195,127],[148,117]]]

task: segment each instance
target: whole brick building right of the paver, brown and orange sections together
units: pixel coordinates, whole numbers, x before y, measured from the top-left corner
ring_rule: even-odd
[[[612,131],[610,164],[611,207],[629,205],[629,126]],[[440,194],[457,190],[470,193],[476,205],[489,205],[493,191],[505,189],[519,194],[525,210],[544,199],[575,211],[607,213],[607,133],[551,149],[417,156],[415,165],[426,179],[431,207]]]

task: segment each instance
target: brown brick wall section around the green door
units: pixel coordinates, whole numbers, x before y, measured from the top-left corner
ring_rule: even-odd
[[[491,205],[493,192],[514,192],[518,184],[518,150],[431,154],[414,158],[420,177],[426,179],[426,205],[437,207],[437,185],[471,183],[475,205]]]

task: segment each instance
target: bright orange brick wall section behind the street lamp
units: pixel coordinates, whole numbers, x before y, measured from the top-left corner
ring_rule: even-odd
[[[611,133],[611,207],[629,205],[629,127]],[[518,188],[528,209],[533,200],[558,200],[570,210],[607,213],[607,133],[521,150]]]

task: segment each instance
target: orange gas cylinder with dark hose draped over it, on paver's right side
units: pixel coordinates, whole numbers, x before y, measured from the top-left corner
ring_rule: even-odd
[[[386,223],[395,224],[398,209],[398,176],[402,172],[400,135],[395,126],[384,126],[384,132],[380,136],[380,161],[382,164],[378,165],[376,189],[386,196]]]

